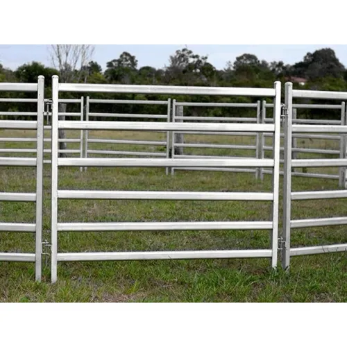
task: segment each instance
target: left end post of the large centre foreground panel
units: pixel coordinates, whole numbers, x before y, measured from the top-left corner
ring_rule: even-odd
[[[51,282],[57,280],[58,253],[58,96],[59,78],[52,76],[52,117],[51,117]]]

